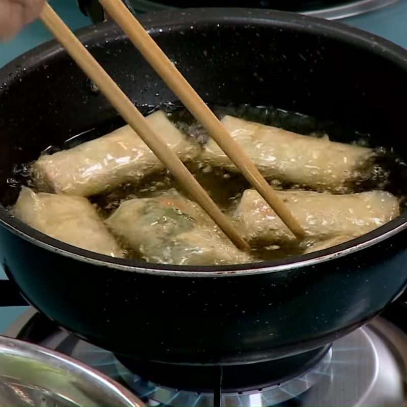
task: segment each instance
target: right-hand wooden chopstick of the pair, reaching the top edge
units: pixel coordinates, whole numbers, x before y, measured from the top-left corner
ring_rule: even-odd
[[[203,102],[180,71],[171,63],[144,27],[120,0],[99,0],[109,16],[123,29],[130,41],[140,51],[153,69],[175,93],[196,120],[208,130],[218,146],[240,169],[246,180],[263,196],[266,202],[281,218],[298,239],[305,232],[275,190],[260,174],[251,158],[219,122],[211,109]]]

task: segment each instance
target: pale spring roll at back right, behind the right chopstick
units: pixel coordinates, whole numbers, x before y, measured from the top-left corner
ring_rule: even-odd
[[[222,123],[269,180],[343,193],[371,162],[371,149],[333,142],[328,137],[304,136],[228,115]],[[213,139],[200,160],[237,171]]]

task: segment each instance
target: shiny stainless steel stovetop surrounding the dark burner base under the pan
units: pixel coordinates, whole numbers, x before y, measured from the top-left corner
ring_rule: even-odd
[[[223,390],[221,385],[214,391],[185,388],[182,379],[176,388],[166,386],[165,379],[164,383],[154,383],[130,371],[112,353],[57,328],[33,308],[18,318],[6,335],[51,348],[96,368],[152,406],[407,405],[407,334],[382,317],[335,341],[314,365],[293,379],[241,391]],[[137,370],[137,364],[134,366]],[[239,374],[239,370],[233,374]],[[267,376],[267,369],[263,368],[262,375]],[[267,383],[267,377],[262,383]]]

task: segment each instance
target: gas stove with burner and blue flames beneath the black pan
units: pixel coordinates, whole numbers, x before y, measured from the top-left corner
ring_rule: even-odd
[[[271,362],[215,367],[124,360],[56,327],[34,308],[6,335],[77,359],[151,406],[405,406],[406,315],[406,304],[393,305],[331,346]]]

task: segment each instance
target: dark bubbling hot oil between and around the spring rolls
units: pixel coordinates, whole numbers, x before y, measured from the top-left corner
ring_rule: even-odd
[[[142,110],[147,114],[157,108],[160,108],[160,106],[143,106]],[[192,118],[185,108],[174,104],[169,104],[164,106],[164,108],[169,119],[180,130],[193,137],[202,145],[207,142],[209,137],[207,132]],[[211,108],[219,118],[228,114],[312,137],[327,137],[327,134],[329,134],[330,139],[333,141],[350,142],[359,146],[373,148],[374,154],[369,167],[363,169],[363,173],[360,173],[357,177],[358,181],[349,185],[346,193],[373,189],[386,190],[400,197],[401,210],[407,209],[407,165],[394,151],[381,146],[375,146],[370,135],[340,127],[337,123],[321,121],[300,113],[273,107],[241,105],[226,107],[211,106]],[[82,142],[106,134],[123,124],[121,119],[104,123],[97,128],[70,137],[62,146],[50,146],[44,153],[52,154],[62,149],[75,147]],[[225,213],[231,213],[236,208],[243,192],[250,188],[248,182],[239,173],[230,173],[219,168],[212,168],[208,165],[200,165],[194,162],[187,162],[185,164]],[[277,180],[269,180],[269,182],[276,189],[302,188],[299,185],[284,184]],[[30,164],[16,165],[8,183],[10,189],[13,190],[11,196],[15,196],[15,198],[17,196],[16,191],[18,191],[21,185],[33,187],[33,182],[30,178]],[[100,216],[107,218],[120,206],[123,200],[153,197],[171,188],[175,188],[186,197],[191,198],[177,180],[173,179],[170,172],[164,170],[148,176],[138,184],[127,183],[103,195],[93,196],[90,200],[97,206]],[[128,258],[142,259],[130,248],[126,248],[126,252]],[[263,245],[253,249],[253,255],[261,260],[279,259],[300,253],[301,249],[298,246],[281,248],[276,245]]]

